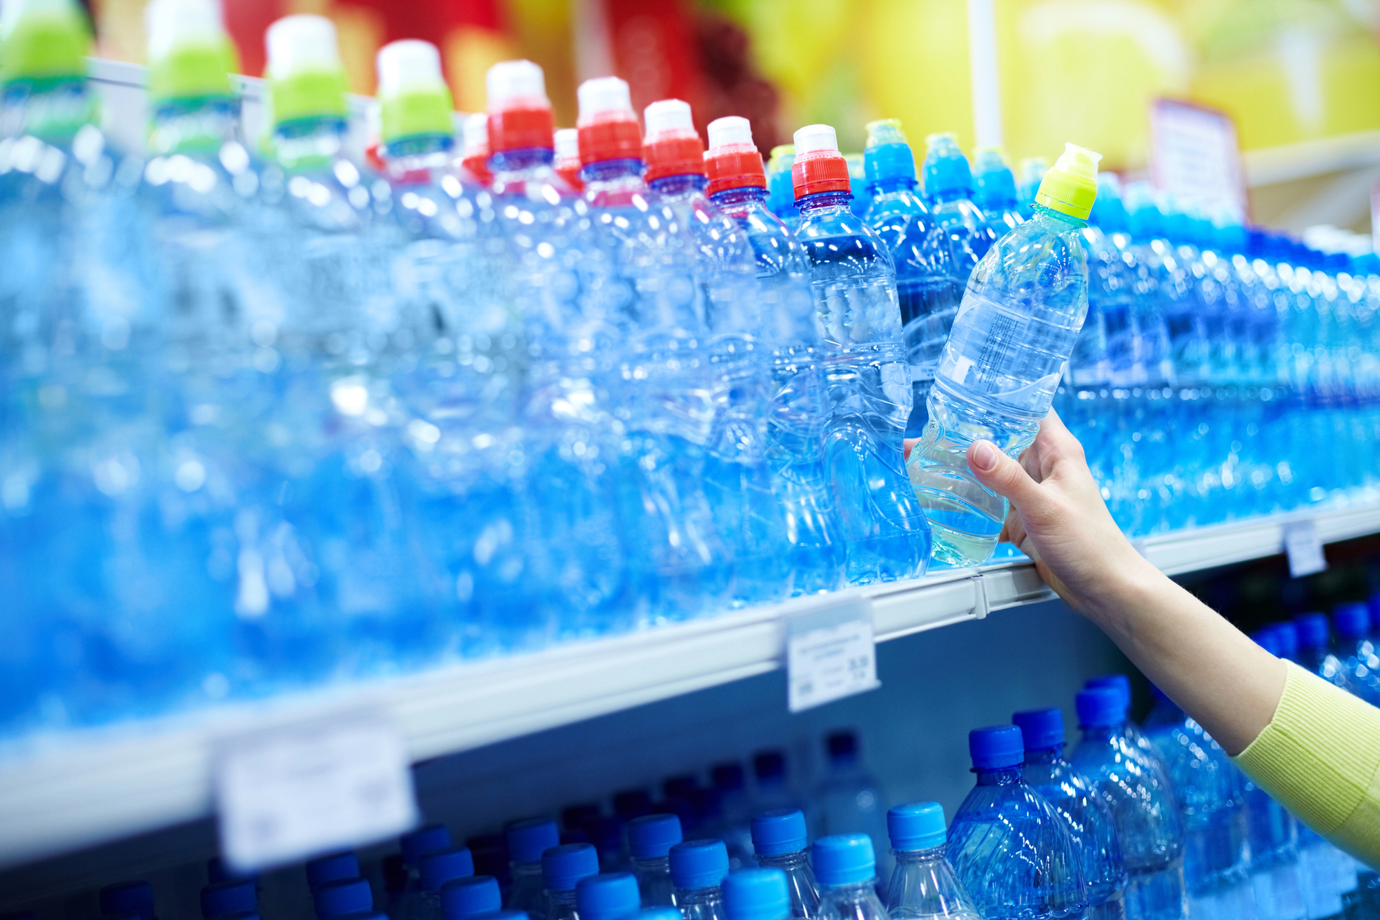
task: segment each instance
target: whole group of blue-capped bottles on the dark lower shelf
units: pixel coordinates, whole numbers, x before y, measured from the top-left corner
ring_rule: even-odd
[[[1380,598],[1377,604],[1380,605]],[[1339,685],[1374,699],[1365,604],[1308,613],[1257,634]],[[1369,920],[1374,870],[1308,830],[1249,782],[1167,698],[1144,728],[1127,718],[1130,684],[1112,674],[1076,695],[1081,739],[1068,751],[1058,709],[1016,713],[969,735],[976,785],[945,826],[933,801],[882,812],[883,794],[850,731],[828,738],[829,774],[809,798],[781,751],[668,778],[502,836],[453,847],[444,826],[404,834],[382,865],[385,898],[355,854],[306,863],[317,920]],[[820,836],[810,843],[811,827]],[[687,838],[689,837],[689,838]],[[885,859],[885,862],[882,859]],[[751,868],[751,866],[756,868]],[[206,920],[257,914],[255,880],[213,862]],[[142,883],[112,885],[115,898]],[[132,916],[105,903],[112,919]],[[112,902],[113,903],[113,902]],[[123,902],[121,902],[123,903]],[[142,902],[141,902],[142,903]],[[377,913],[375,913],[377,910]]]

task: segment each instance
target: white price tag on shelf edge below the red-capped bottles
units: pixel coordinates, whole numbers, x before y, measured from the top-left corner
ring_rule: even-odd
[[[785,670],[792,713],[880,687],[872,602],[850,598],[787,620]]]

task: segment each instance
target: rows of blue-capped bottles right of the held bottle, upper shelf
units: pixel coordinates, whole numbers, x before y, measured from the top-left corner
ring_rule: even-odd
[[[1323,256],[1100,177],[1056,406],[1132,535],[1370,499],[1374,256]]]

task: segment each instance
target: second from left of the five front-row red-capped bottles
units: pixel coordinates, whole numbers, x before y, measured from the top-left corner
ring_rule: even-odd
[[[730,548],[700,485],[718,413],[694,243],[642,180],[628,84],[586,80],[578,95],[591,224],[581,268],[625,334],[609,385],[627,432],[617,483],[629,576],[646,619],[683,619],[733,593]]]

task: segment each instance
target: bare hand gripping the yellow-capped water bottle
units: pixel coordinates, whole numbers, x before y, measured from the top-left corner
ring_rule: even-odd
[[[1050,410],[1035,441],[1012,460],[991,441],[967,449],[967,466],[1010,503],[1002,533],[1075,611],[1104,619],[1126,590],[1163,577],[1112,521],[1078,442]]]

